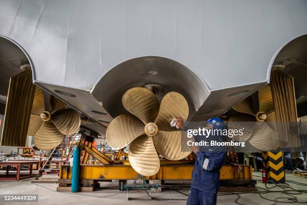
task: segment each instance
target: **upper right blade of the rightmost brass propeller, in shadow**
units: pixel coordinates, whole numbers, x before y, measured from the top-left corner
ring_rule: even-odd
[[[271,86],[265,85],[263,88],[258,91],[259,97],[259,111],[264,114],[270,113],[274,109],[273,97],[271,92]]]

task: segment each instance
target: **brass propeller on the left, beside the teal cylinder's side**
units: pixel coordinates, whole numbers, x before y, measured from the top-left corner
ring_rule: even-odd
[[[50,97],[50,111],[46,111],[43,90],[35,89],[28,135],[34,136],[34,144],[41,150],[56,148],[65,135],[76,133],[80,127],[80,117],[73,109],[65,109],[60,99]]]

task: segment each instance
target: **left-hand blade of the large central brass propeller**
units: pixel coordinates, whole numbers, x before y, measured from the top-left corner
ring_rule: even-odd
[[[106,131],[108,145],[121,149],[144,134],[144,124],[132,115],[123,114],[114,118]]]

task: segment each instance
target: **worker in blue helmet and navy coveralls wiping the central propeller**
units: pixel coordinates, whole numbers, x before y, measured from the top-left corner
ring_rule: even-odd
[[[176,120],[176,127],[183,129],[182,120]],[[224,123],[219,118],[211,118],[207,121],[206,129],[224,129]],[[194,136],[195,141],[199,136]],[[221,141],[220,136],[210,136],[207,141]],[[204,140],[204,139],[202,139]],[[210,144],[210,143],[209,143]],[[192,184],[187,205],[211,205],[216,204],[217,192],[219,190],[220,169],[225,163],[226,153],[219,148],[192,147],[196,154],[194,169],[192,172]]]

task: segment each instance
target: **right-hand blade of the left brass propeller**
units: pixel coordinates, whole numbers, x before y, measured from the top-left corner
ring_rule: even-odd
[[[81,120],[77,111],[65,109],[52,115],[51,121],[56,128],[64,135],[75,134],[80,128]]]

